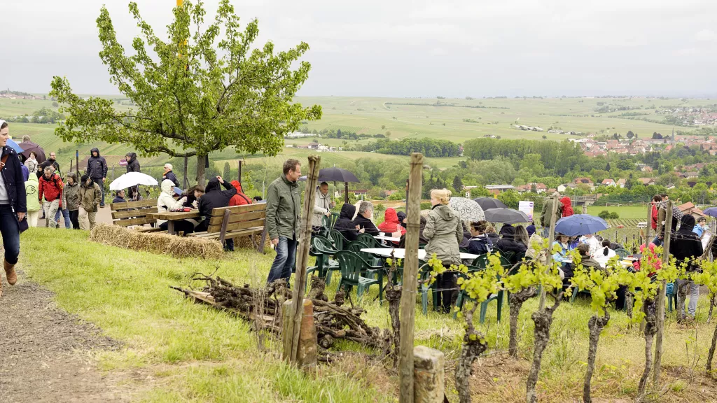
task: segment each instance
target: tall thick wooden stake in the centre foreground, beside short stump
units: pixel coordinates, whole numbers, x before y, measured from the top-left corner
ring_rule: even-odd
[[[411,187],[407,195],[406,258],[404,283],[401,294],[401,345],[399,355],[399,402],[414,402],[413,386],[413,326],[418,289],[418,238],[421,220],[421,188],[423,181],[423,155],[411,154]]]

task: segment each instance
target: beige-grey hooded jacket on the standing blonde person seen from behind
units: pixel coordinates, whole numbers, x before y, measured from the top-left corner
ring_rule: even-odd
[[[443,265],[460,265],[460,249],[463,240],[463,223],[460,215],[445,204],[437,204],[428,213],[423,236],[428,240],[426,258],[434,253]]]

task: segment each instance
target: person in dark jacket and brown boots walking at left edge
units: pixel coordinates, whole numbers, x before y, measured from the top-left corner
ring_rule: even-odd
[[[7,147],[10,132],[7,122],[0,120],[0,233],[5,247],[3,262],[7,282],[15,285],[15,265],[20,254],[20,222],[27,219],[27,194],[25,194],[22,168],[17,153]],[[1,277],[1,276],[0,276]],[[0,296],[2,279],[0,278]]]

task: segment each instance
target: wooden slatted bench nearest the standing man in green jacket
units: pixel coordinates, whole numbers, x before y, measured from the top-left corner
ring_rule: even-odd
[[[195,232],[193,237],[215,239],[224,243],[224,240],[238,237],[250,237],[252,245],[258,252],[264,252],[267,239],[265,203],[245,204],[244,206],[219,207],[212,209],[209,219],[209,228],[206,232]],[[259,242],[255,235],[261,235]]]

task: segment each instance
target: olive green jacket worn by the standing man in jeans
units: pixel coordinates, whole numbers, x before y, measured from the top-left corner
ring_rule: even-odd
[[[299,239],[301,194],[299,184],[282,174],[267,189],[267,232],[270,240],[278,237]]]

